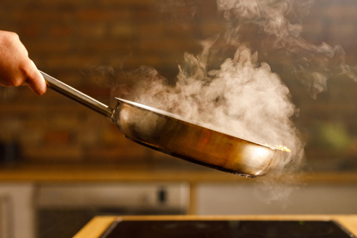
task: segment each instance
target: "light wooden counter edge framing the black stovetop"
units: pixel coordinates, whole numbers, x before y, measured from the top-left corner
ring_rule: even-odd
[[[73,238],[99,238],[116,219],[122,220],[335,220],[357,235],[357,214],[351,215],[151,215],[97,216],[90,220]]]

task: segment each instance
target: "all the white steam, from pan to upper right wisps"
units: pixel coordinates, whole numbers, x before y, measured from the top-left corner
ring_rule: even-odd
[[[236,47],[234,55],[224,60],[220,68],[208,69],[210,54],[217,52],[212,45],[219,36],[214,36],[202,42],[201,54],[185,53],[175,85],[169,85],[155,69],[142,67],[139,71],[144,80],[137,83],[135,94],[128,99],[238,138],[285,145],[291,153],[269,175],[269,181],[276,182],[281,174],[296,172],[304,161],[304,143],[291,121],[297,109],[280,77],[267,63],[258,63],[257,52],[282,54],[285,67],[307,86],[312,97],[326,90],[326,80],[332,74],[357,79],[356,68],[346,65],[341,46],[312,45],[300,36],[301,18],[308,14],[312,3],[217,0],[217,8],[228,24],[224,39],[226,45]],[[245,34],[246,29],[250,34]],[[263,181],[261,191],[278,199],[290,193],[294,179],[283,181],[287,187],[280,193],[275,192],[281,190],[278,183],[267,181]]]

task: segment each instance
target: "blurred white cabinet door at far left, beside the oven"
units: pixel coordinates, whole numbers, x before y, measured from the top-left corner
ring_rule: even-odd
[[[34,185],[0,184],[0,238],[34,238]]]

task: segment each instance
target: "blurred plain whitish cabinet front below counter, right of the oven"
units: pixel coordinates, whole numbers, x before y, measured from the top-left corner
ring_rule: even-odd
[[[200,184],[196,209],[200,215],[356,214],[357,185],[301,186],[289,195],[269,202],[254,184]]]

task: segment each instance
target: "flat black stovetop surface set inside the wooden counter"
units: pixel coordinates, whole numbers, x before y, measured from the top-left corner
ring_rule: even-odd
[[[138,220],[114,222],[100,238],[356,238],[335,221]]]

